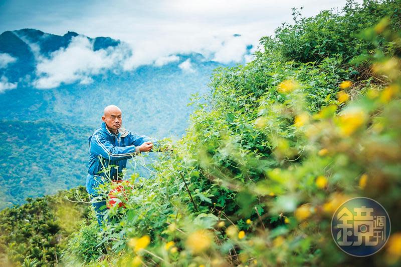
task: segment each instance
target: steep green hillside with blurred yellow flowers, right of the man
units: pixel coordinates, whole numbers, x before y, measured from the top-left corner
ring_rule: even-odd
[[[294,9],[254,61],[215,70],[174,151],[151,179],[128,177],[106,224],[92,217],[69,237],[64,264],[400,264],[399,7],[349,1],[312,18]],[[393,222],[374,256],[349,256],[331,236],[334,211],[355,196]]]

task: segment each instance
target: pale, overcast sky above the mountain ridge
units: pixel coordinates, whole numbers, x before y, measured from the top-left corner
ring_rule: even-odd
[[[291,8],[303,7],[303,16],[310,17],[344,5],[345,0],[0,0],[0,32],[33,28],[119,39],[134,52],[124,69],[191,52],[228,64],[249,61],[247,45],[254,51],[261,37],[291,23]]]

